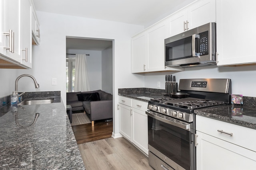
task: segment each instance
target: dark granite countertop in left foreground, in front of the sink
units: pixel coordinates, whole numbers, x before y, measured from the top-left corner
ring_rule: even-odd
[[[0,169],[85,169],[64,104],[55,102],[0,108]]]

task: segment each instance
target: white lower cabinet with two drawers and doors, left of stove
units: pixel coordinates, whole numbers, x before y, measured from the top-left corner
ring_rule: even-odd
[[[148,155],[148,103],[122,96],[118,101],[120,133]]]

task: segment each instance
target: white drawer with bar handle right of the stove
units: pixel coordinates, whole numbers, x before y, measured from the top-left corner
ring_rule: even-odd
[[[232,133],[228,135],[219,131]],[[196,131],[206,133],[256,152],[256,129],[196,115]]]

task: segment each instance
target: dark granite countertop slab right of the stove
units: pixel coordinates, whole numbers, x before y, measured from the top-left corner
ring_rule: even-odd
[[[256,107],[226,105],[195,109],[194,113],[256,129]]]

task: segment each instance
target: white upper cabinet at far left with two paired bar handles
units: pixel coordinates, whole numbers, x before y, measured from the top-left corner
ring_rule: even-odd
[[[10,61],[21,62],[20,51],[20,0],[1,0],[0,53]]]

